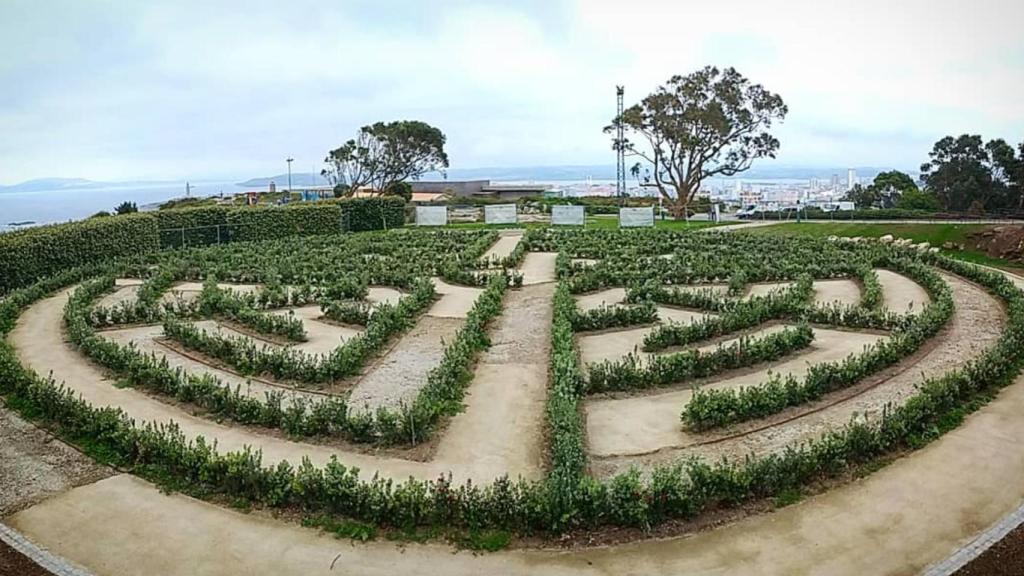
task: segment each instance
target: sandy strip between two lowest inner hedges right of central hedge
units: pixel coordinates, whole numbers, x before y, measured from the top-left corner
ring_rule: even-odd
[[[703,384],[706,389],[734,389],[760,384],[770,374],[802,378],[814,364],[836,362],[857,354],[881,339],[874,334],[838,330],[814,330],[814,342],[801,354],[779,363]],[[699,435],[683,429],[679,414],[693,396],[690,388],[631,398],[591,400],[584,408],[587,417],[589,452],[595,458],[646,454],[670,447],[686,447],[700,442]],[[602,470],[610,462],[599,466]],[[616,466],[617,467],[617,466]]]

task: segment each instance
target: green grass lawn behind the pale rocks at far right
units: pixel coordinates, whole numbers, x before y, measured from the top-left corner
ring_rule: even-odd
[[[803,236],[861,236],[879,238],[891,234],[896,238],[909,238],[914,242],[928,242],[932,246],[942,247],[946,242],[969,244],[968,235],[988,228],[989,224],[961,223],[844,223],[844,222],[791,222],[751,229],[757,234],[797,234]],[[993,258],[980,250],[943,250],[944,254],[990,266],[1021,269],[1021,264]]]

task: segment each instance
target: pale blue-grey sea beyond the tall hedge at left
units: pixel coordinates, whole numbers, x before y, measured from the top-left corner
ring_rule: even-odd
[[[191,196],[216,196],[244,192],[229,181],[191,182]],[[12,222],[53,223],[78,220],[100,210],[113,212],[124,201],[142,209],[185,195],[185,182],[142,182],[88,188],[62,188],[33,192],[0,193],[0,230]]]

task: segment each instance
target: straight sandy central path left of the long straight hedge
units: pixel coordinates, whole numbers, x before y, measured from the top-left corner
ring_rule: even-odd
[[[466,409],[452,419],[435,458],[462,465],[511,465],[528,478],[543,476],[554,291],[554,284],[542,284],[505,296]]]

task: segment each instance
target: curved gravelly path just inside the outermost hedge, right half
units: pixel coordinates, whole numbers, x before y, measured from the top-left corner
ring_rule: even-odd
[[[780,414],[783,419],[777,425],[763,428],[755,427],[750,434],[727,438],[714,444],[691,445],[684,448],[665,446],[658,449],[654,447],[653,442],[646,441],[637,435],[636,444],[638,446],[643,443],[644,447],[658,451],[637,456],[595,458],[592,469],[599,476],[605,476],[626,469],[631,465],[647,467],[687,456],[700,456],[717,460],[722,457],[742,458],[752,453],[777,452],[786,446],[817,438],[829,429],[842,426],[855,416],[878,417],[886,405],[902,404],[915,394],[916,387],[923,379],[936,377],[958,368],[994,345],[1006,325],[1001,304],[984,289],[944,273],[942,273],[942,277],[952,289],[956,308],[947,326],[933,339],[932,347],[927,353],[912,357],[885,371],[881,382],[868,378],[867,384],[870,385],[855,387],[860,392],[857,396],[849,398],[848,394],[841,390],[813,405],[796,407]],[[851,332],[841,332],[840,334],[845,334],[847,337],[854,335]],[[816,341],[815,344],[817,345],[818,342]],[[839,342],[836,345],[845,344]],[[836,397],[839,397],[841,401],[834,403],[833,399]],[[681,408],[682,403],[679,402],[673,412],[677,425],[679,425],[678,418]],[[651,410],[665,411],[665,416],[662,418],[664,421],[668,421],[667,408],[653,407]],[[610,421],[608,425],[614,423],[613,419],[606,419]],[[651,418],[644,418],[638,421],[649,425],[650,420]],[[764,423],[760,422],[762,425]],[[752,425],[757,424],[759,422],[752,422]],[[686,433],[677,428],[675,434],[683,435]],[[670,436],[667,424],[665,435],[665,442],[668,443]],[[681,437],[677,436],[676,438]],[[616,442],[613,433],[609,431],[606,439],[610,448],[605,449],[605,454],[623,453],[622,451],[616,452],[622,448],[635,450],[634,454],[639,451],[624,443],[612,444]],[[593,442],[593,440],[594,436],[592,435],[591,441]],[[678,440],[674,442],[678,442]]]

